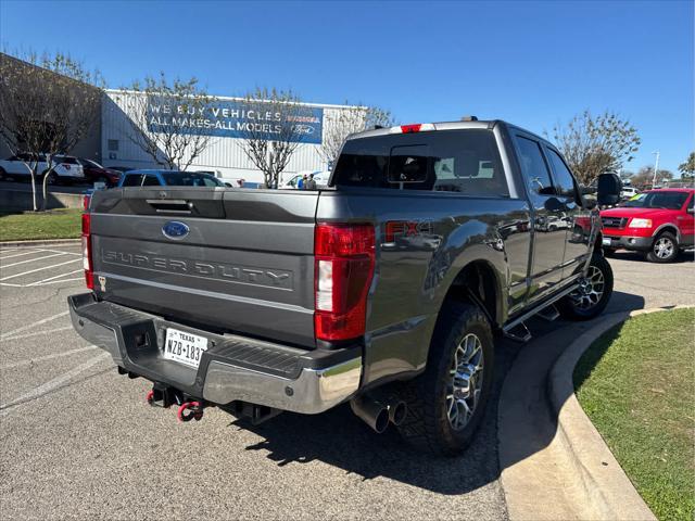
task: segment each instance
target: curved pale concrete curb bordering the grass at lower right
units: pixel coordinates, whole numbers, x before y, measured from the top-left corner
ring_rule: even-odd
[[[623,472],[603,437],[574,395],[573,372],[584,352],[601,335],[628,318],[646,313],[692,306],[673,306],[606,316],[581,334],[559,356],[549,372],[547,393],[552,412],[557,418],[556,441],[573,462],[581,480],[585,501],[596,519],[655,520],[632,482]]]

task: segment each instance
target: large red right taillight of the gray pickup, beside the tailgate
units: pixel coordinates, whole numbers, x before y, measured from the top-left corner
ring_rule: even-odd
[[[318,225],[314,254],[316,338],[339,341],[362,336],[375,265],[374,226]]]

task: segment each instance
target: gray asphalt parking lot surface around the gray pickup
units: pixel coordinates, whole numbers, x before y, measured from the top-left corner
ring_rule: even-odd
[[[692,253],[654,265],[611,258],[608,312],[695,304]],[[0,250],[0,510],[4,519],[506,519],[496,398],[460,458],[431,459],[348,407],[252,428],[208,409],[178,423],[144,380],[118,376],[73,332],[85,291],[79,246]],[[536,339],[571,325],[530,323]],[[522,346],[503,342],[496,392]]]

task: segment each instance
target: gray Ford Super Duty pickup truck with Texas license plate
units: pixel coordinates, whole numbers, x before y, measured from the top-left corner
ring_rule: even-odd
[[[602,176],[598,203],[619,191]],[[70,310],[182,421],[350,402],[377,432],[456,454],[484,414],[495,339],[610,298],[590,206],[558,150],[507,123],[378,128],[349,137],[327,189],[97,191],[91,291]]]

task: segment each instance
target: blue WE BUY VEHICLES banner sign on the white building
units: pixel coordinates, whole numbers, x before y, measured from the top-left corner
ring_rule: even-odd
[[[180,132],[217,136],[223,138],[279,139],[289,126],[295,131],[291,141],[320,144],[324,110],[301,105],[291,114],[277,112],[277,105],[264,102],[217,101],[206,105],[150,102],[148,126],[150,131],[169,131],[175,126]]]

